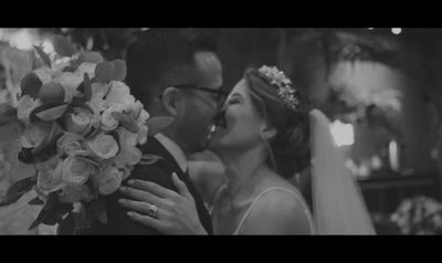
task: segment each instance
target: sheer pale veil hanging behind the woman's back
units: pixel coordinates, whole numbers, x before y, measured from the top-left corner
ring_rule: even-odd
[[[312,198],[318,234],[376,234],[362,194],[337,148],[328,118],[311,112]]]

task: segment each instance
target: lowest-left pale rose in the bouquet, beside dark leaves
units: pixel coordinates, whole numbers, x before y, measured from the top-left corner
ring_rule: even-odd
[[[45,162],[36,162],[35,168],[39,171],[36,188],[42,193],[48,194],[64,186],[62,181],[63,162],[59,157],[53,157]]]

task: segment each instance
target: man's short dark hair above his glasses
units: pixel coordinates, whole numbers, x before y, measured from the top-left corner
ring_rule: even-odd
[[[126,51],[126,82],[145,104],[167,85],[189,84],[194,77],[194,54],[215,53],[214,35],[203,29],[149,29]],[[147,105],[146,105],[147,106]]]

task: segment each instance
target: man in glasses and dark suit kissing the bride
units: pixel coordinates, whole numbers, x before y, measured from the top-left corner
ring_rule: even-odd
[[[208,126],[225,98],[220,60],[211,45],[191,30],[151,29],[128,48],[126,61],[127,84],[149,114],[175,119],[141,147],[143,154],[161,158],[150,165],[137,165],[129,179],[177,191],[171,179],[176,172],[193,196],[203,228],[211,233],[211,219],[190,181],[186,157],[206,147]],[[122,193],[116,192],[106,199],[108,222],[96,233],[159,234],[129,219],[129,210],[118,203]],[[157,207],[151,207],[150,212],[156,217]]]

